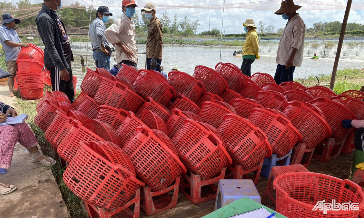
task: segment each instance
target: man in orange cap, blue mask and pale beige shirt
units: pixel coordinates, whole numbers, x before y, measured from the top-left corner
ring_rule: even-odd
[[[116,48],[116,62],[137,67],[138,47],[135,37],[135,25],[132,17],[135,15],[135,0],[123,0],[123,15],[104,32],[106,39]]]

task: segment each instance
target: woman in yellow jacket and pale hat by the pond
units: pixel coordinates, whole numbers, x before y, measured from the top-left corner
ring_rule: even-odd
[[[245,42],[243,44],[243,63],[241,64],[241,72],[246,76],[250,75],[251,65],[255,59],[259,59],[259,45],[258,45],[258,35],[255,30],[257,27],[254,24],[254,20],[251,18],[246,19],[243,23],[246,34]]]

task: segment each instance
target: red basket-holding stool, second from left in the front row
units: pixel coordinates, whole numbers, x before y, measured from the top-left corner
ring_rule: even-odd
[[[175,207],[180,180],[181,176],[176,178],[174,185],[160,191],[152,191],[149,186],[142,187],[141,207],[145,214],[150,216]],[[173,191],[172,197],[170,191]]]

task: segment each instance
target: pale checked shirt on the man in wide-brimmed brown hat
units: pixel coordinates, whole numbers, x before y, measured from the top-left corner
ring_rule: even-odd
[[[301,66],[305,43],[305,31],[305,23],[299,14],[288,20],[278,45],[277,64],[286,65],[286,62],[292,53],[292,48],[297,48],[298,51],[294,56],[293,66]]]

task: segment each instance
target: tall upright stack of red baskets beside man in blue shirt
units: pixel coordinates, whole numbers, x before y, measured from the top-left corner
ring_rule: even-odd
[[[38,99],[43,97],[44,77],[44,52],[35,45],[21,49],[16,61],[17,85],[20,96],[25,99]]]

